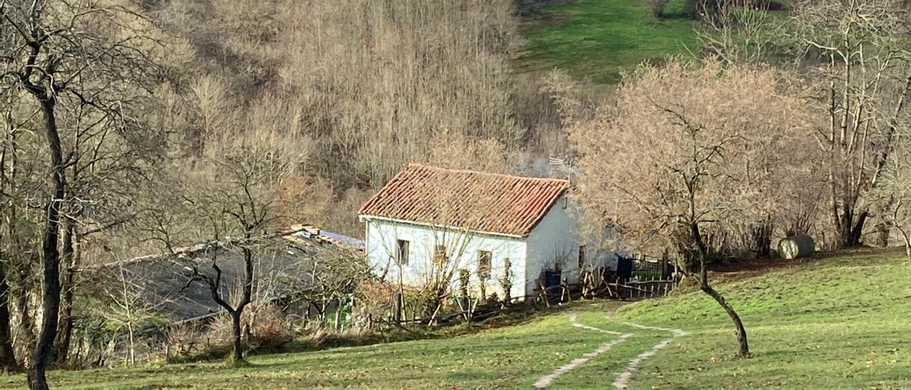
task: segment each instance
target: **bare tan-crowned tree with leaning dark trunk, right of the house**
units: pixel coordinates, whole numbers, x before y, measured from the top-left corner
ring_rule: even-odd
[[[775,157],[807,134],[803,106],[788,97],[782,76],[719,63],[644,67],[619,88],[616,107],[571,132],[588,214],[617,226],[628,245],[677,251],[684,271],[731,317],[742,356],[746,331],[711,286],[708,242],[767,218]]]

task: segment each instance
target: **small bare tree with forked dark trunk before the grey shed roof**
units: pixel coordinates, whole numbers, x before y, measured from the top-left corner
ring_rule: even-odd
[[[229,302],[221,290],[222,270],[217,253],[210,253],[211,272],[198,268],[189,282],[209,286],[212,299],[230,314],[234,341],[230,355],[233,364],[243,362],[241,315],[253,301],[257,250],[263,233],[276,220],[274,208],[279,199],[279,184],[296,168],[300,152],[276,134],[252,132],[234,139],[222,135],[189,172],[186,194],[196,221],[203,226],[202,237],[242,252],[243,282],[240,294]]]

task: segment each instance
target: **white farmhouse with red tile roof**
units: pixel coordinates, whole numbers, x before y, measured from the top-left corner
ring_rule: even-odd
[[[441,278],[503,297],[535,293],[559,270],[575,282],[582,266],[613,253],[579,240],[568,180],[410,164],[359,211],[374,272],[405,285]]]

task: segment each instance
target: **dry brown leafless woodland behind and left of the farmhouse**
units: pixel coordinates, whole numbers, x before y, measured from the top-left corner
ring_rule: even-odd
[[[291,223],[357,236],[407,162],[508,172],[566,150],[552,91],[512,72],[508,0],[0,10],[0,363],[38,388],[87,311],[79,268]]]

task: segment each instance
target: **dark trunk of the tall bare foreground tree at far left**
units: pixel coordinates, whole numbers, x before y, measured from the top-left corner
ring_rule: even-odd
[[[32,367],[28,370],[28,385],[32,390],[46,390],[47,364],[50,363],[54,339],[58,324],[60,310],[60,251],[57,241],[60,228],[60,208],[63,204],[64,178],[63,151],[60,146],[60,135],[57,133],[56,118],[54,114],[54,97],[41,99],[41,109],[44,113],[45,130],[50,153],[50,163],[54,179],[54,194],[47,202],[47,223],[44,231],[42,248],[44,296],[42,297],[41,310],[44,321],[41,322],[41,331],[35,344],[32,358]]]

